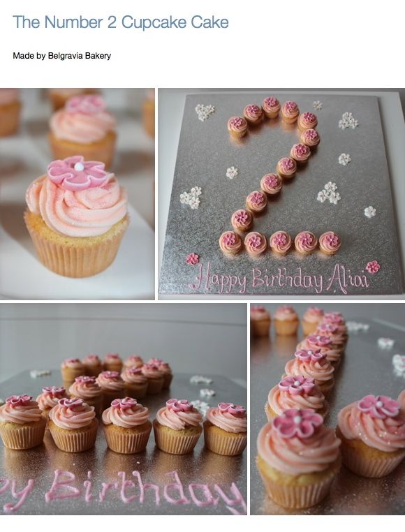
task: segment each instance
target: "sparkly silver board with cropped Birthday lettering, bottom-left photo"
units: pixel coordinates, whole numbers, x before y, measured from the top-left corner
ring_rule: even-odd
[[[27,392],[36,395],[44,386],[56,385],[60,380],[59,371],[53,371],[53,375],[44,378],[32,379],[28,372],[24,372],[0,383],[0,397],[5,399],[11,394]],[[221,376],[209,376],[213,379],[210,385],[191,384],[189,375],[175,375],[170,391],[165,391],[157,396],[147,396],[142,399],[142,404],[149,408],[151,420],[156,411],[165,404],[170,397],[179,399],[186,398],[190,401],[200,399],[200,389],[209,387],[215,390],[216,395],[205,399],[210,405],[216,406],[220,401],[233,401],[246,405],[246,390],[240,385]],[[202,399],[202,398],[201,398]],[[204,400],[204,399],[202,399]],[[0,515],[4,513],[4,505],[16,504],[19,498],[11,494],[11,485],[3,491],[5,479],[15,480],[15,489],[20,492],[27,486],[29,480],[34,480],[34,487],[27,495],[26,500],[15,514],[163,514],[163,515],[230,515],[232,513],[243,514],[246,512],[246,489],[247,489],[247,466],[246,451],[240,457],[222,457],[209,452],[204,447],[203,435],[200,436],[196,448],[191,455],[175,456],[159,451],[154,445],[153,431],[149,438],[147,450],[137,455],[119,455],[107,448],[103,431],[98,429],[96,446],[94,449],[71,454],[57,449],[49,433],[45,434],[43,445],[32,450],[13,451],[3,447],[0,440]],[[54,470],[61,469],[70,471],[75,475],[71,486],[80,489],[80,495],[62,500],[45,501],[45,494],[50,490],[54,480]],[[84,500],[85,487],[83,482],[87,480],[87,472],[91,471],[93,494],[92,500],[87,503]],[[126,480],[133,480],[133,487],[128,486],[124,490],[127,498],[132,501],[124,503],[121,498],[122,476],[117,475],[120,471],[126,473]],[[133,471],[140,473],[142,483],[147,482],[159,486],[160,503],[156,503],[155,489],[145,488],[145,500],[140,502],[140,485],[132,475]],[[186,503],[175,503],[181,497],[174,473],[177,471],[179,480],[184,488]],[[61,480],[67,480],[64,476]],[[105,495],[104,501],[99,501],[99,494],[104,483],[118,482],[117,488],[112,487]],[[233,492],[231,485],[235,483],[240,491],[242,499],[238,501],[237,492]],[[210,503],[204,507],[196,505],[190,495],[189,484],[207,484],[217,503]],[[171,485],[171,486],[170,486]],[[228,501],[215,491],[218,485]],[[68,488],[69,489],[69,488]],[[202,487],[194,487],[194,494],[202,501],[206,500]],[[71,489],[70,489],[71,491]],[[59,494],[66,494],[66,487],[58,489]],[[168,502],[172,498],[172,502]],[[236,501],[236,502],[235,502]]]

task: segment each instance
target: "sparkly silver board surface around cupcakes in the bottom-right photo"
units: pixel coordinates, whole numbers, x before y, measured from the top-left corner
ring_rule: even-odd
[[[337,309],[339,310],[339,309]],[[405,353],[404,332],[376,321],[368,332],[351,332],[346,354],[337,370],[334,390],[328,395],[330,413],[325,424],[335,427],[337,414],[347,404],[367,394],[384,394],[397,398],[405,388],[405,379],[395,376],[392,356]],[[256,468],[256,440],[267,422],[265,402],[271,388],[280,380],[286,362],[293,357],[298,337],[277,337],[272,328],[271,339],[254,339],[251,343],[251,514],[271,515],[389,515],[405,513],[405,461],[385,478],[362,478],[344,466],[323,503],[307,510],[286,510],[265,494]],[[378,338],[395,339],[392,349],[381,349]]]

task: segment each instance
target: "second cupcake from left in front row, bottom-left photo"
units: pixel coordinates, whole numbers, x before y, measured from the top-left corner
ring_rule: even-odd
[[[49,414],[48,427],[58,449],[82,452],[94,447],[98,421],[94,406],[83,399],[59,399]]]

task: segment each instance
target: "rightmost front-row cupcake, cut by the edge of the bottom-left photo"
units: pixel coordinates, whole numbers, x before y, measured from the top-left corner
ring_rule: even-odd
[[[247,416],[243,406],[219,403],[216,408],[209,408],[206,418],[205,447],[216,455],[242,455],[247,443]]]

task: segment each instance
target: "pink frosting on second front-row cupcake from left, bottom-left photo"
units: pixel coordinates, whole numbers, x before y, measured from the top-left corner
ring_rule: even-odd
[[[49,417],[61,429],[75,430],[91,424],[96,414],[94,406],[84,403],[83,399],[59,399]]]

